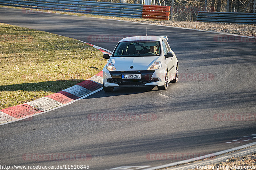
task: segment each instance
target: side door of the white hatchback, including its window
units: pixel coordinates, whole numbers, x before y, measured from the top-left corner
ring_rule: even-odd
[[[168,44],[167,41],[165,41],[164,39],[162,40],[162,46],[163,46],[163,51],[164,51],[164,55],[167,55],[167,53],[169,53],[171,51],[171,48]],[[167,68],[168,68],[168,77],[169,77],[169,81],[173,79],[173,68],[174,68],[174,61],[173,58],[165,58],[165,63],[167,64]]]

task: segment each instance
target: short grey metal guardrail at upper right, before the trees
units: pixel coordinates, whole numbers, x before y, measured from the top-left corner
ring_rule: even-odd
[[[199,11],[197,21],[256,23],[256,13]]]

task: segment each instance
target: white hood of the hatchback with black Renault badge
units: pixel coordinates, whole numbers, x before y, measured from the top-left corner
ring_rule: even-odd
[[[147,70],[160,56],[150,57],[111,57],[117,71]],[[133,66],[131,69],[130,67]]]

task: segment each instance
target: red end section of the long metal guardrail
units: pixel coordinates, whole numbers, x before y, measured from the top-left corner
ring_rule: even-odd
[[[143,5],[142,18],[169,20],[170,6]]]

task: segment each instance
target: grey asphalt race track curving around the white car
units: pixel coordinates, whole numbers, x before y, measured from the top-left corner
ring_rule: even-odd
[[[246,137],[256,134],[252,117],[256,114],[256,42],[241,37],[227,42],[222,41],[224,34],[2,7],[0,22],[111,51],[118,37],[144,35],[147,26],[148,35],[169,37],[179,60],[179,82],[165,91],[156,87],[101,90],[32,119],[0,126],[1,165],[89,165],[93,170],[158,166],[256,142]],[[104,121],[100,114],[144,118]],[[251,117],[240,119],[244,115]],[[77,160],[49,158],[71,153]],[[85,153],[91,157],[79,157]]]

